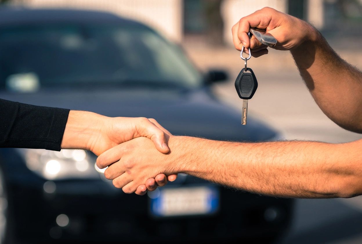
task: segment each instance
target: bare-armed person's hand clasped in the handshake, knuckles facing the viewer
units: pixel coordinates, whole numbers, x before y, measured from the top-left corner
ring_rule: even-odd
[[[175,136],[171,136],[175,138]],[[182,149],[181,145],[174,145],[178,148],[178,156]],[[98,168],[108,168],[104,175],[107,179],[113,180],[113,185],[122,188],[125,193],[143,195],[146,193],[146,186],[142,185],[147,181],[148,190],[149,178],[154,178],[157,174],[165,173],[172,175],[178,173],[177,162],[173,159],[175,153],[168,154],[158,152],[148,138],[139,137],[123,144],[115,146],[101,154],[97,158]],[[114,163],[113,163],[114,162]],[[147,180],[148,179],[148,180]],[[141,189],[142,186],[142,189]]]

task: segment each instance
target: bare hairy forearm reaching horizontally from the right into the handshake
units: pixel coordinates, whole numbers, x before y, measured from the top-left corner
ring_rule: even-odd
[[[362,193],[361,157],[358,150],[346,150],[346,144],[239,143],[172,137],[169,145],[171,150],[174,145],[179,147],[174,153],[175,173],[237,189],[295,198],[351,197]]]

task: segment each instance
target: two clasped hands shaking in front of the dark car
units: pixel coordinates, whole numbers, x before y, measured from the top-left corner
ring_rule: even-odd
[[[173,137],[155,119],[106,117],[92,112],[70,111],[63,135],[63,149],[87,149],[99,157],[97,166],[125,193],[144,195],[177,178],[165,165]]]

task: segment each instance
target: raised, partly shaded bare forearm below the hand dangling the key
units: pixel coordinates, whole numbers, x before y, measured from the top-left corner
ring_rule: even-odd
[[[362,133],[362,73],[344,61],[312,26],[310,39],[291,54],[322,111],[336,124]]]

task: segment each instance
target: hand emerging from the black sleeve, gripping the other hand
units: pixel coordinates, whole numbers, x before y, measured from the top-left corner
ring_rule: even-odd
[[[157,150],[168,153],[167,139],[169,133],[155,119],[130,118],[130,117],[106,117],[97,113],[86,111],[70,111],[66,128],[64,130],[61,147],[63,149],[86,149],[96,155],[106,150],[129,141],[135,137],[145,136],[150,138]],[[169,133],[171,135],[171,133]],[[177,175],[157,175],[157,185],[162,186],[169,181],[174,181]],[[162,181],[162,179],[164,179]],[[152,189],[152,181],[147,181]],[[145,186],[146,187],[146,186]],[[143,189],[143,186],[140,190]]]

